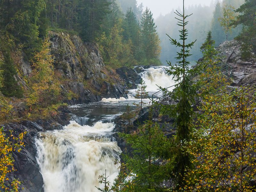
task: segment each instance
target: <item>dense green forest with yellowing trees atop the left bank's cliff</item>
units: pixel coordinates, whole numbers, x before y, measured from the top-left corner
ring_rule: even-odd
[[[52,30],[99,43],[105,62],[113,66],[159,62],[152,13],[143,14],[136,0],[2,0],[0,26],[2,39],[21,45],[28,58]]]

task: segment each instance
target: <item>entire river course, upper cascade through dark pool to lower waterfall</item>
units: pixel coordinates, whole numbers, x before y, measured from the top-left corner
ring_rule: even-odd
[[[162,67],[152,67],[141,73],[149,92],[157,85],[169,87],[172,78]],[[126,110],[127,103],[135,110],[135,90],[128,99],[103,99],[84,105],[70,106],[73,121],[55,130],[39,133],[36,139],[37,162],[44,179],[45,192],[96,192],[99,175],[105,173],[112,183],[118,175],[119,154],[122,152],[112,136],[116,116]],[[145,100],[148,102],[149,100]],[[101,186],[102,188],[103,186]]]

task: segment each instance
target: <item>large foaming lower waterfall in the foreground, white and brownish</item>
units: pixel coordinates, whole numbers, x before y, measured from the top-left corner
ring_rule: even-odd
[[[113,183],[119,172],[114,162],[121,153],[111,136],[113,128],[113,123],[82,126],[70,121],[63,130],[40,133],[36,139],[37,163],[44,191],[96,192],[98,176],[105,174],[105,169]]]

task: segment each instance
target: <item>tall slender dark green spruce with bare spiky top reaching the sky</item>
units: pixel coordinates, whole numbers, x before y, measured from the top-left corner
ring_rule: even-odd
[[[171,38],[171,44],[180,48],[180,52],[177,53],[176,59],[178,60],[175,65],[168,62],[168,69],[166,68],[167,74],[173,76],[173,80],[176,82],[173,92],[160,87],[173,101],[177,101],[176,104],[164,105],[159,104],[161,111],[164,115],[169,115],[175,118],[176,137],[175,144],[176,150],[174,154],[175,167],[173,169],[173,174],[176,181],[177,187],[182,187],[184,185],[184,175],[186,174],[186,169],[192,166],[191,155],[187,152],[188,142],[191,139],[193,133],[192,120],[195,115],[192,104],[195,103],[195,96],[197,95],[197,85],[191,76],[200,73],[200,67],[191,68],[188,61],[190,54],[190,49],[195,44],[196,41],[191,43],[186,43],[188,38],[188,30],[186,25],[188,25],[188,17],[190,15],[185,15],[184,10],[184,0],[183,0],[183,12],[180,13],[176,10],[175,14],[178,16],[178,26],[180,26],[180,41]]]

